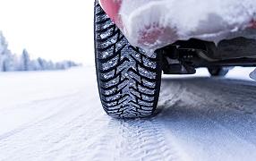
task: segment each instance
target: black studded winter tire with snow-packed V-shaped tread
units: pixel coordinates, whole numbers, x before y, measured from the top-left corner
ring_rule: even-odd
[[[97,1],[94,14],[96,72],[104,110],[116,118],[154,114],[161,82],[159,55],[132,47]]]

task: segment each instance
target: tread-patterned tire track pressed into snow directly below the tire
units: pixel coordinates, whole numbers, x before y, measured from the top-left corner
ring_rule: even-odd
[[[171,143],[166,144],[164,128],[154,118],[120,123],[120,156],[128,160],[179,160]]]

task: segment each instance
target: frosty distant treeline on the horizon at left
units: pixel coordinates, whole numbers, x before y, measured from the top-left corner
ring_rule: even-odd
[[[40,57],[30,59],[26,49],[21,55],[15,55],[8,49],[8,43],[0,31],[0,72],[64,70],[78,65],[80,64],[75,64],[72,61],[53,63]]]

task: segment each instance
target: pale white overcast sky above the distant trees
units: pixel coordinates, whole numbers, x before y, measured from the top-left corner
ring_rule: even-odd
[[[0,30],[13,53],[93,64],[93,0],[0,0]]]

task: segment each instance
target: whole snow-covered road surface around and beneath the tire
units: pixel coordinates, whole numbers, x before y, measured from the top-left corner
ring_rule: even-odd
[[[136,120],[103,112],[92,67],[1,73],[0,160],[255,161],[256,83],[234,79],[246,72],[165,77],[159,114]]]

